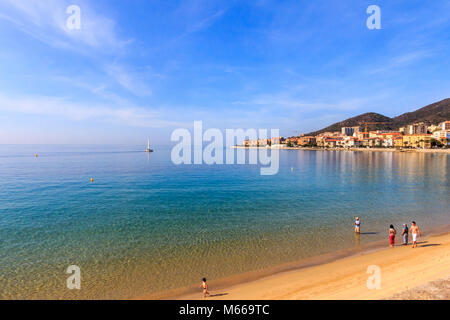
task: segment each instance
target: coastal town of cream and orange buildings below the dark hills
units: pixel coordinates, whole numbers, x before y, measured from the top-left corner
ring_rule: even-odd
[[[450,121],[436,125],[423,122],[410,124],[398,130],[372,130],[377,123],[361,123],[361,126],[342,127],[341,131],[323,132],[317,135],[299,135],[289,138],[244,140],[244,147],[280,148],[396,148],[437,149],[450,148]]]

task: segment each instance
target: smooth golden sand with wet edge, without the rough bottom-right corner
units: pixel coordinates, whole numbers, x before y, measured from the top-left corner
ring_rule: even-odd
[[[401,236],[397,236],[397,241]],[[416,251],[411,251],[416,250]],[[414,253],[414,254],[413,254]],[[382,270],[381,290],[367,289],[367,267]],[[450,226],[427,232],[417,249],[387,241],[210,282],[211,297],[236,300],[388,299],[450,276]],[[202,299],[198,288],[181,288],[137,299]]]

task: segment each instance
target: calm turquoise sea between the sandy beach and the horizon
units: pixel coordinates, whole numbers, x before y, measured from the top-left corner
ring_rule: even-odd
[[[132,298],[449,224],[446,154],[280,151],[280,170],[170,147],[0,146],[0,298]],[[34,154],[39,157],[35,158]],[[90,178],[94,182],[90,182]],[[81,290],[68,290],[69,265]]]

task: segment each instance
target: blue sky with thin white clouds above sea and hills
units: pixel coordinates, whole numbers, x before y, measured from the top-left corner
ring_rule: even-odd
[[[196,120],[292,136],[396,116],[450,97],[449,53],[444,0],[0,0],[0,143],[170,144]]]

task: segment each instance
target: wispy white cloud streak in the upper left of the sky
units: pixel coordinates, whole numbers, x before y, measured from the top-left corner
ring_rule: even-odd
[[[81,29],[68,30],[66,21],[69,15],[66,9],[71,4],[66,0],[2,0],[0,20],[11,23],[50,47],[89,54],[94,60],[99,59],[99,52],[118,54],[121,48],[132,42],[118,35],[114,19],[97,14],[86,1],[77,1],[81,9]],[[107,60],[103,58],[101,62],[94,63],[99,75],[103,73],[135,96],[147,97],[152,94],[148,84],[150,79],[145,73],[133,71],[116,62],[108,64]],[[98,89],[105,91],[107,86]]]

